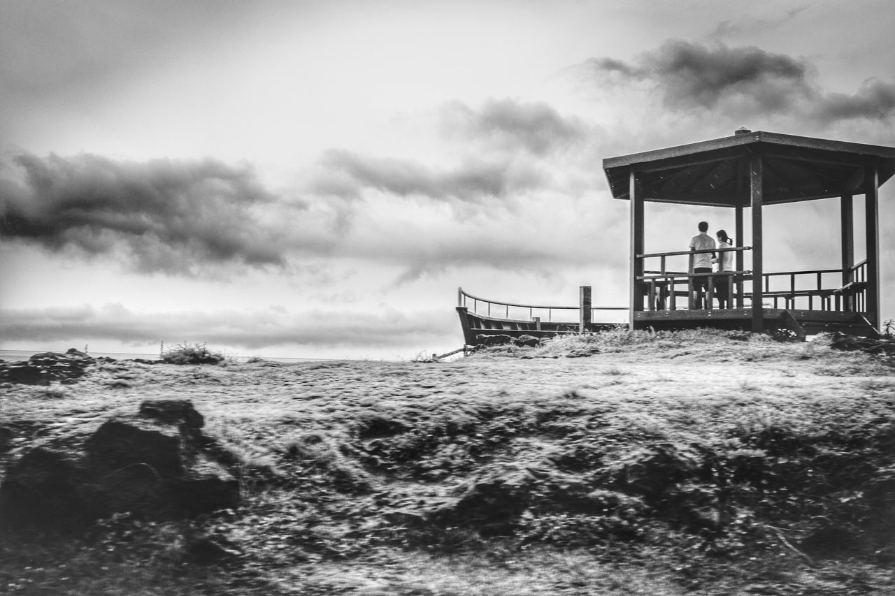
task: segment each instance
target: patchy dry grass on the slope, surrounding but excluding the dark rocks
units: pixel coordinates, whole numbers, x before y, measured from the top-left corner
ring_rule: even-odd
[[[891,593],[885,565],[861,549],[809,565],[762,525],[783,528],[798,545],[816,515],[807,492],[787,505],[775,500],[780,488],[759,507],[751,485],[711,476],[764,461],[785,480],[788,464],[777,455],[784,448],[794,458],[811,447],[824,461],[851,461],[891,421],[891,387],[891,363],[879,357],[833,352],[823,340],[786,344],[715,331],[618,330],[440,363],[101,363],[63,390],[3,387],[2,413],[21,429],[0,465],[41,442],[77,447],[108,416],[131,413],[144,399],[186,398],[237,462],[244,507],[173,526],[122,519],[54,548],[0,541],[0,591]],[[625,466],[651,449],[715,462],[708,476],[668,490],[675,498],[727,490],[737,505],[725,513],[723,532],[680,526],[656,513],[668,507],[661,501],[638,508],[646,497],[634,493],[626,497],[634,499],[630,510],[558,506],[550,482],[615,498],[628,490],[618,483]],[[550,481],[535,483],[507,535],[386,521],[389,512],[424,509],[476,481],[524,470]],[[799,478],[820,495],[837,470],[829,464],[818,468],[823,476]],[[817,507],[831,507],[854,495],[816,498]],[[246,555],[228,566],[196,566],[184,546],[195,532],[221,532]],[[883,550],[895,560],[895,547]]]

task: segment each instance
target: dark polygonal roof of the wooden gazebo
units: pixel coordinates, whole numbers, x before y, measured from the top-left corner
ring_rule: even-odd
[[[763,202],[787,203],[864,194],[864,168],[879,184],[895,174],[895,148],[777,132],[738,132],[722,139],[603,159],[616,199],[629,199],[633,169],[644,200],[715,207],[749,204],[749,158],[763,156]]]

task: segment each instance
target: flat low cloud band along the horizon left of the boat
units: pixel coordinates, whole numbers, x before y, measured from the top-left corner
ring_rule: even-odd
[[[140,312],[120,304],[73,308],[0,309],[5,341],[40,344],[115,341],[126,345],[208,342],[250,350],[282,345],[383,347],[422,345],[457,336],[450,311],[260,311]]]

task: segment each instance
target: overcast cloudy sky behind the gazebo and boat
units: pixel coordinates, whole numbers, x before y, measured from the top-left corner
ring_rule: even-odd
[[[0,0],[0,349],[404,360],[463,344],[459,286],[625,305],[602,159],[895,146],[893,29],[889,0]],[[766,209],[766,270],[839,267],[838,214]],[[733,217],[648,204],[645,249]]]

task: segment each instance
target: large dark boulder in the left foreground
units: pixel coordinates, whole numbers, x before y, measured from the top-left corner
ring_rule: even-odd
[[[66,527],[119,512],[175,519],[238,507],[239,481],[202,423],[190,402],[144,402],[103,423],[79,454],[31,449],[0,486],[0,518]]]

